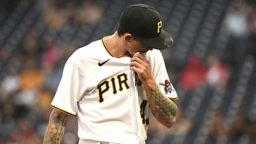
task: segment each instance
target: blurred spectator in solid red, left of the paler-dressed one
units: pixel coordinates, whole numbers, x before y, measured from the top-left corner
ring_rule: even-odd
[[[181,71],[180,83],[185,90],[193,91],[206,81],[207,69],[201,59],[191,55],[187,66]]]

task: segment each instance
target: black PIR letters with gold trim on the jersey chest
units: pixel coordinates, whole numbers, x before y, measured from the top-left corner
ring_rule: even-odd
[[[124,78],[123,78],[124,77]],[[117,77],[118,79],[118,84],[119,84],[119,91],[123,91],[123,86],[122,84],[124,84],[126,90],[128,90],[130,87],[128,86],[127,84],[127,74],[123,73],[123,74],[119,74]],[[116,82],[115,82],[115,78],[111,78],[111,82],[112,82],[112,88],[113,88],[113,94],[116,94],[117,93],[117,90],[116,90]],[[98,86],[97,86],[97,89],[98,89],[98,92],[99,92],[99,102],[103,102],[104,101],[104,98],[103,98],[103,94],[105,92],[107,92],[110,88],[109,86],[109,81],[108,80],[104,80],[102,83],[100,83]],[[105,88],[102,88],[102,87],[105,87]]]

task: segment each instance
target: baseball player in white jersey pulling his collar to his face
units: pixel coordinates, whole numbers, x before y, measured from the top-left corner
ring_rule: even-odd
[[[172,44],[155,8],[128,6],[117,32],[70,56],[51,107],[44,144],[60,144],[69,115],[79,144],[145,144],[152,114],[175,123],[178,100],[159,49]]]

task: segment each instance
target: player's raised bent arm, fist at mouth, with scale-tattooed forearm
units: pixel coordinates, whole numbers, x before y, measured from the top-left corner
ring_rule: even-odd
[[[152,75],[149,61],[141,54],[131,58],[130,69],[137,72],[138,78],[146,90],[152,114],[164,126],[170,128],[175,123],[176,104],[162,94]]]

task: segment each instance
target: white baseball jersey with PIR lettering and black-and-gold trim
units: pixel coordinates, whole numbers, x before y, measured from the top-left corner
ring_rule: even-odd
[[[144,57],[149,60],[162,93],[177,100],[161,52],[154,49]],[[79,48],[66,62],[50,106],[73,116],[78,114],[80,139],[116,144],[145,143],[148,99],[138,76],[130,70],[130,58],[113,57],[103,38]]]

